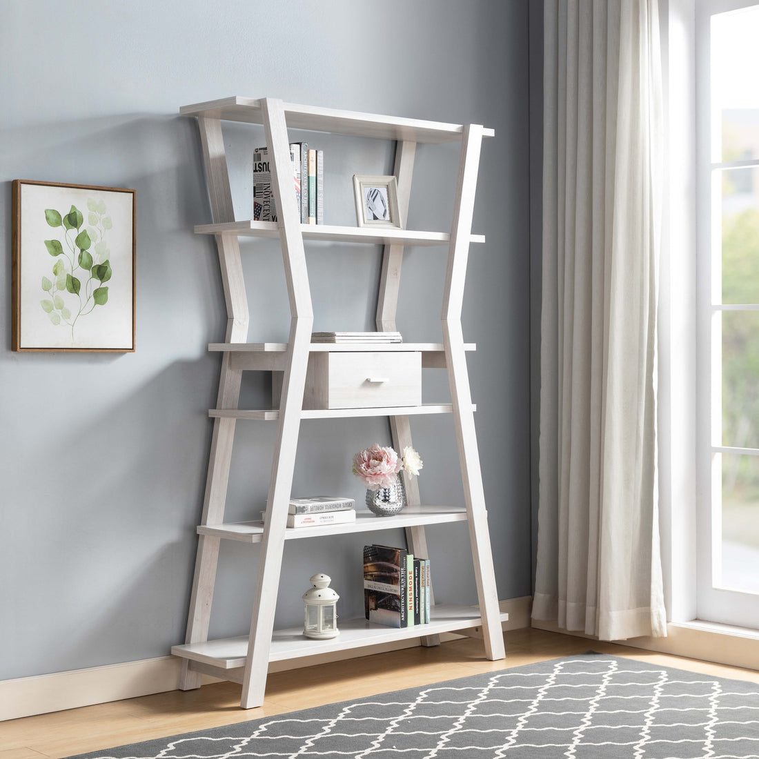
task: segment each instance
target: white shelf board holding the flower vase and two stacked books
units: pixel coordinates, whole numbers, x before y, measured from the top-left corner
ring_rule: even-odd
[[[400,514],[391,517],[376,517],[372,512],[360,509],[356,521],[348,524],[320,524],[315,527],[288,528],[285,540],[301,537],[321,537],[353,532],[392,530],[414,527],[419,524],[445,524],[466,521],[467,512],[463,506],[407,506]],[[232,522],[230,524],[200,524],[199,535],[211,535],[241,543],[260,543],[263,536],[263,522]]]

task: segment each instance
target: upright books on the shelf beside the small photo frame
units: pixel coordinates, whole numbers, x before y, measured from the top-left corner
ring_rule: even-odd
[[[308,143],[290,143],[290,161],[301,224],[323,224],[324,151],[309,149]],[[257,147],[253,153],[253,218],[257,222],[279,221],[266,147]]]

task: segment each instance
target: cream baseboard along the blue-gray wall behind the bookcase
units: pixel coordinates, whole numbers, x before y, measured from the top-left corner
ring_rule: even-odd
[[[501,601],[501,611],[509,613],[504,630],[514,630],[530,625],[531,597],[512,598]],[[452,641],[461,635],[445,633],[441,641]],[[329,661],[365,657],[371,653],[411,648],[417,640],[398,641],[366,648],[339,651],[322,657],[307,657],[272,663],[269,672],[313,666]],[[181,660],[178,657],[157,657],[123,664],[109,664],[90,669],[73,669],[70,672],[54,672],[52,675],[22,677],[0,681],[0,721],[14,720],[32,714],[75,709],[122,698],[135,698],[151,693],[175,691],[179,687]],[[203,676],[203,684],[216,682],[213,677]]]

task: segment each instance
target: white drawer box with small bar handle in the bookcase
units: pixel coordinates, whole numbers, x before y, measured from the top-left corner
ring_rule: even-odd
[[[308,359],[303,408],[419,406],[419,351],[325,351]]]

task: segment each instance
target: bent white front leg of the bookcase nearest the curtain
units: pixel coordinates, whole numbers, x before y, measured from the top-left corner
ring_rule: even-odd
[[[441,319],[442,342],[446,349],[446,365],[453,403],[458,458],[461,463],[461,478],[464,482],[464,498],[469,517],[469,537],[474,560],[474,575],[477,579],[477,596],[480,600],[485,653],[488,659],[499,660],[505,658],[505,649],[499,616],[496,575],[493,569],[493,553],[487,527],[480,455],[477,451],[477,433],[474,428],[474,411],[471,408],[464,334],[461,329],[461,307],[464,302],[464,283],[482,136],[481,126],[468,124],[465,125],[464,134],[461,137],[461,159],[458,165]]]

